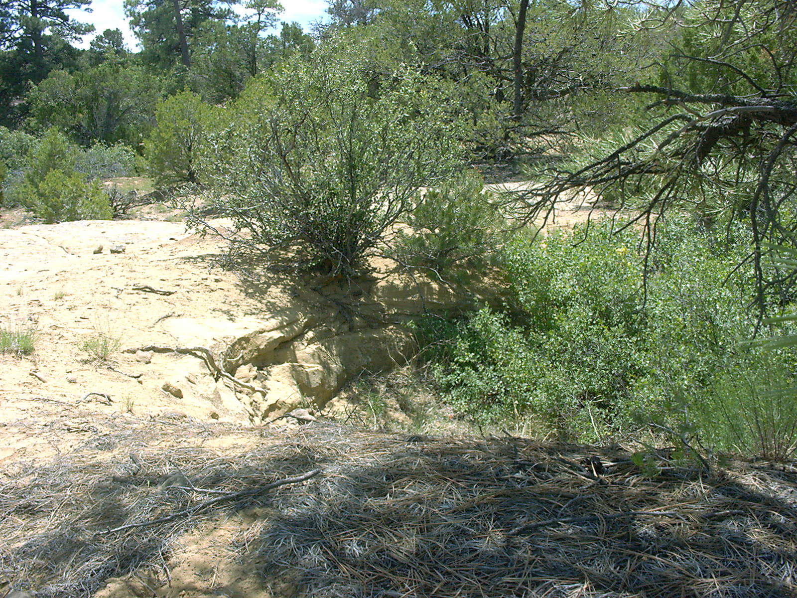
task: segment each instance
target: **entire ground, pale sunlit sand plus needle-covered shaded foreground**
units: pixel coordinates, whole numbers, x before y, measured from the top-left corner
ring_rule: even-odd
[[[0,596],[797,595],[791,465],[476,437],[345,393],[253,419],[197,356],[136,349],[215,352],[314,291],[242,281],[179,210],[134,216],[0,214],[0,326],[35,341],[0,355]]]

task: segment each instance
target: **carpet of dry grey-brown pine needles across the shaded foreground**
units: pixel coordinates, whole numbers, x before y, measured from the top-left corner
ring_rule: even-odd
[[[321,423],[223,455],[199,446],[257,431],[125,421],[0,474],[0,589],[89,596],[144,565],[165,578],[189,529],[271,506],[230,549],[304,596],[797,595],[793,466],[706,476],[662,451],[646,478],[620,448]]]

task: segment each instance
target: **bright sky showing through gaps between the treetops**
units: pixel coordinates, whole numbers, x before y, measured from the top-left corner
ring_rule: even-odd
[[[285,11],[277,15],[281,21],[298,22],[304,30],[308,30],[311,22],[324,17],[324,10],[327,8],[326,0],[281,0]],[[82,43],[76,43],[78,48],[88,48],[88,44],[94,36],[107,29],[120,29],[124,33],[124,41],[128,47],[135,49],[135,36],[128,27],[128,21],[124,18],[124,0],[92,0],[90,5],[91,13],[84,10],[67,10],[70,18],[78,22],[91,23],[95,32],[89,33],[84,37]]]

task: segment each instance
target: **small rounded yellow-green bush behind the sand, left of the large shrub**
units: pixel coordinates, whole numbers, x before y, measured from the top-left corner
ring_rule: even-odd
[[[190,91],[158,103],[157,125],[144,140],[144,158],[156,185],[199,182],[198,159],[209,115],[210,106]]]

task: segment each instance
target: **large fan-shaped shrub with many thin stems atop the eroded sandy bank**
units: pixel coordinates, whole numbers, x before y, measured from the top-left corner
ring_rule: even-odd
[[[256,80],[210,156],[223,213],[257,244],[292,246],[333,275],[358,269],[460,151],[434,81],[410,70],[366,80],[359,60],[327,49]]]

